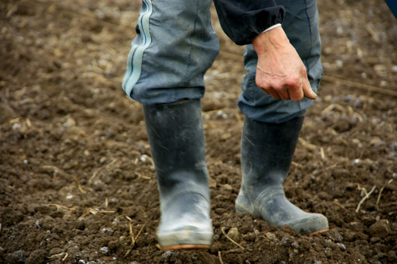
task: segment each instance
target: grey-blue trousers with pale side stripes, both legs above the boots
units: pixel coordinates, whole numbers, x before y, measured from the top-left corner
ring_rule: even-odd
[[[123,89],[143,104],[171,103],[204,95],[204,74],[219,53],[209,8],[212,0],[143,0],[137,36],[131,43]],[[283,29],[306,66],[312,89],[322,77],[316,0],[276,0],[284,5]],[[273,99],[255,84],[257,55],[244,52],[238,107],[249,118],[282,123],[302,115],[313,100]]]

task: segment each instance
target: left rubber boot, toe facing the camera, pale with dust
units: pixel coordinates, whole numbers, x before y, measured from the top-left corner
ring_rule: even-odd
[[[199,99],[143,105],[156,166],[162,249],[209,248],[212,222]]]

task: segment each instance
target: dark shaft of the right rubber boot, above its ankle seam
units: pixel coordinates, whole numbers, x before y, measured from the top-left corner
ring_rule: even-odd
[[[288,174],[304,116],[281,124],[246,117],[241,137],[243,184],[282,184]]]

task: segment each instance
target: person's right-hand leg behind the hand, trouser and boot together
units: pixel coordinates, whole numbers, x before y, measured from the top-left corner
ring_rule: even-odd
[[[286,8],[283,29],[306,66],[316,92],[322,77],[316,0],[280,0]],[[299,233],[328,229],[323,215],[309,214],[286,200],[286,179],[306,109],[312,100],[274,99],[255,84],[257,55],[251,45],[244,54],[238,106],[246,115],[241,139],[242,184],[236,200],[239,213],[249,212],[278,227],[290,225]]]

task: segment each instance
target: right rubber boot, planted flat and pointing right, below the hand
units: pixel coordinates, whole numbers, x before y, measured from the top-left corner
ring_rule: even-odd
[[[289,225],[301,234],[324,233],[328,220],[302,211],[286,199],[283,182],[289,171],[304,117],[282,124],[244,120],[241,137],[242,183],[238,213],[251,213],[269,224]]]

